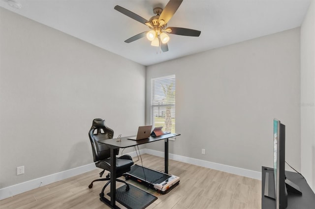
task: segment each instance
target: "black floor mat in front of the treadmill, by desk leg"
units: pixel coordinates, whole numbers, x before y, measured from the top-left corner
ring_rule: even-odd
[[[128,209],[145,209],[158,198],[129,184],[130,189],[126,191],[126,185],[116,189],[116,201]],[[110,193],[107,193],[109,196]]]

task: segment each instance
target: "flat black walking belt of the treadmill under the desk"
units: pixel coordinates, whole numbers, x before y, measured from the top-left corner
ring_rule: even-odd
[[[162,183],[171,176],[139,165],[131,166],[128,174],[150,183]]]

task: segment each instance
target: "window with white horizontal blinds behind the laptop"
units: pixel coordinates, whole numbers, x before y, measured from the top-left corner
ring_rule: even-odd
[[[152,125],[175,133],[175,75],[152,78],[151,85]]]

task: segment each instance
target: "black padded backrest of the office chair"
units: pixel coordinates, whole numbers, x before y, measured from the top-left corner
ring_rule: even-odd
[[[95,133],[96,131],[96,133]],[[89,131],[89,137],[92,145],[93,159],[97,162],[110,157],[110,149],[106,144],[99,143],[100,139],[111,139],[114,136],[114,131],[105,126],[105,120],[95,118],[92,127]],[[119,149],[116,152],[118,155]]]

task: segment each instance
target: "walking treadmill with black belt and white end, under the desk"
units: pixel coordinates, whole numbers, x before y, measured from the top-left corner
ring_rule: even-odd
[[[141,165],[133,165],[130,171],[126,173],[126,180],[132,179],[139,183],[148,185],[149,187],[158,190],[158,193],[166,194],[171,189],[179,184],[179,177],[169,175],[151,168]]]

